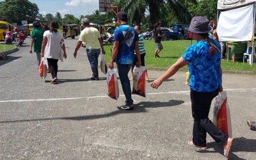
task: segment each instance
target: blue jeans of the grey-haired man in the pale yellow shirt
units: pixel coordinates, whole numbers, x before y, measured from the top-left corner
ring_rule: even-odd
[[[101,54],[101,49],[86,49],[86,52],[91,68],[97,68],[98,57],[99,54]]]

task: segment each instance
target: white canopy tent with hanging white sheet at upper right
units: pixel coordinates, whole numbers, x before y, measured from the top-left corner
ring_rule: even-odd
[[[218,0],[217,33],[220,41],[252,41],[254,45],[255,4],[256,0]],[[252,54],[254,52],[252,47]]]

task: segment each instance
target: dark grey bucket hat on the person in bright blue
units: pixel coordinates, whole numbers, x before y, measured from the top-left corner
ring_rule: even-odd
[[[209,20],[202,16],[193,17],[188,28],[192,33],[209,33],[210,30]]]

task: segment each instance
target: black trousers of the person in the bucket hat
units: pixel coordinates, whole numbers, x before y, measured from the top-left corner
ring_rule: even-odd
[[[191,89],[192,116],[194,118],[193,143],[206,146],[208,133],[218,145],[223,145],[228,137],[208,118],[212,99],[218,95],[219,89],[213,92],[196,92]]]

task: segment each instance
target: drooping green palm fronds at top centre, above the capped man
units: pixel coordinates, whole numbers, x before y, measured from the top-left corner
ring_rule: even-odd
[[[142,22],[145,12],[148,11],[149,28],[153,28],[154,23],[165,21],[168,14],[173,14],[179,22],[186,23],[190,15],[187,12],[187,2],[197,4],[197,0],[114,0],[112,5],[119,6],[137,24]]]

